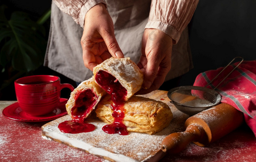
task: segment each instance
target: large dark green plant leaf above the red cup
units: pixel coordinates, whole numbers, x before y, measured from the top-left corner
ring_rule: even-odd
[[[25,12],[15,11],[7,19],[5,9],[0,7],[0,65],[5,67],[11,63],[15,70],[22,72],[37,69],[44,62],[45,27],[31,20]]]

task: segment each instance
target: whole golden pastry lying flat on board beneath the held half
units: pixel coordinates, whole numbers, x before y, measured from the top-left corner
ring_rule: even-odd
[[[97,117],[107,124],[114,121],[110,98],[109,95],[103,97],[95,110]],[[129,132],[155,134],[167,127],[173,117],[167,104],[140,96],[132,96],[125,101],[124,108],[123,124]]]

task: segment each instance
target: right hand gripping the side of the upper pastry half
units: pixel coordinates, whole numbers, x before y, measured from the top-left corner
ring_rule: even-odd
[[[137,94],[157,90],[171,69],[172,38],[157,29],[145,29],[142,37],[142,56],[138,63],[144,73],[143,89]]]

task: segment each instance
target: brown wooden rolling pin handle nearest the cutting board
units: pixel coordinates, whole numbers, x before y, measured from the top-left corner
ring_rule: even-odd
[[[184,150],[192,141],[198,141],[206,135],[202,126],[191,124],[184,132],[176,132],[166,136],[162,142],[162,151],[176,154]]]

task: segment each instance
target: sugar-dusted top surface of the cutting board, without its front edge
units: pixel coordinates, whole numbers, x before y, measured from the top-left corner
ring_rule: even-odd
[[[157,95],[161,96],[159,93]],[[160,97],[160,99],[162,98],[164,97]],[[154,156],[158,151],[161,151],[162,140],[167,135],[173,132],[184,131],[184,123],[189,116],[178,111],[174,105],[168,102],[168,100],[165,100],[165,102],[167,105],[169,105],[171,111],[173,112],[173,119],[169,126],[153,135],[137,132],[130,132],[126,136],[107,134],[102,131],[102,127],[105,125],[105,123],[97,118],[87,121],[96,126],[94,131],[80,134],[65,134],[56,128],[62,121],[71,119],[68,115],[46,124],[43,126],[43,131],[45,129],[51,133],[55,132],[62,134],[67,136],[68,139],[78,141],[77,143],[85,142],[91,146],[94,146],[96,149],[103,148],[104,150],[109,151],[110,153],[115,153],[116,155],[123,154],[138,161],[143,161],[144,159],[149,159],[150,157]],[[67,142],[69,142],[69,140],[67,140]],[[80,147],[83,147],[82,144]]]

